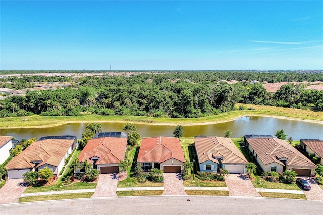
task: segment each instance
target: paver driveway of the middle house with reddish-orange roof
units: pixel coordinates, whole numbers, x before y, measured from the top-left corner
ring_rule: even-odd
[[[182,177],[179,173],[164,173],[163,195],[187,195],[184,190]]]

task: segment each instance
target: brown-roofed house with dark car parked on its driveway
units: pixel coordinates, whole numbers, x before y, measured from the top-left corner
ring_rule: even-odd
[[[294,170],[300,176],[312,176],[316,165],[286,140],[271,135],[247,135],[246,147],[264,172]]]

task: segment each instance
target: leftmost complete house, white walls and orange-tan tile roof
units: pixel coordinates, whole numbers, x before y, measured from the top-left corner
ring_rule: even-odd
[[[48,136],[33,142],[5,166],[8,179],[22,178],[25,172],[48,167],[59,175],[65,159],[76,145],[76,136]]]

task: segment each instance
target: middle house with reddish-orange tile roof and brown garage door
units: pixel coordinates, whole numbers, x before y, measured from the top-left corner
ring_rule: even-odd
[[[180,140],[175,137],[143,138],[137,162],[144,170],[158,168],[164,173],[182,172],[185,158]]]

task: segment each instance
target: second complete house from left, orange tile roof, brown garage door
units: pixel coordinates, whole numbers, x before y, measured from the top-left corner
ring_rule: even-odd
[[[126,149],[127,138],[99,137],[91,139],[78,158],[81,164],[87,160],[100,173],[119,173],[118,163],[125,159]]]

